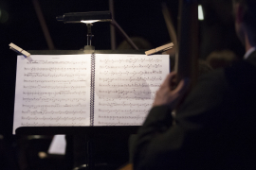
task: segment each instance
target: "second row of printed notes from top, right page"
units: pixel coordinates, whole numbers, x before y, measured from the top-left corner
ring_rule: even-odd
[[[161,68],[162,65],[160,64],[146,64],[146,65],[101,65],[100,68],[101,69],[136,69],[136,68],[148,68],[148,69],[152,69],[152,68]]]

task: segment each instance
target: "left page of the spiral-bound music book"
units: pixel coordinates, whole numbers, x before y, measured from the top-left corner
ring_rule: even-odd
[[[17,127],[89,126],[91,55],[17,59],[13,133]]]

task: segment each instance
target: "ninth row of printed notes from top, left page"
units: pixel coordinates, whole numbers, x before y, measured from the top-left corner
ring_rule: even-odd
[[[58,111],[54,111],[54,110],[50,110],[50,111],[47,111],[47,110],[34,110],[34,111],[31,111],[31,110],[22,110],[22,114],[31,114],[31,115],[35,115],[35,114],[40,114],[40,115],[45,115],[45,114],[55,114],[55,115],[59,115],[59,114],[72,114],[72,115],[75,115],[75,114],[85,114],[86,111],[84,110],[80,110],[80,111],[75,111],[75,110],[64,110],[64,111],[61,111],[61,110],[58,110]]]

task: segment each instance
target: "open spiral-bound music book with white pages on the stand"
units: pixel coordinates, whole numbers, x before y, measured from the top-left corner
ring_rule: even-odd
[[[31,55],[17,59],[17,127],[138,126],[170,71],[168,55]]]

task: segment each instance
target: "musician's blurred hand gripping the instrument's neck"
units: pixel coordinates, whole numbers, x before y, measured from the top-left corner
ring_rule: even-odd
[[[176,79],[176,76],[176,73],[172,72],[165,78],[164,82],[155,94],[153,107],[168,105],[171,110],[174,110],[190,85],[189,78],[183,78],[177,86],[175,86],[174,79]]]

